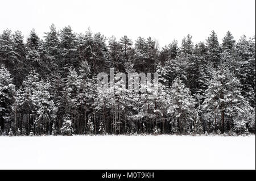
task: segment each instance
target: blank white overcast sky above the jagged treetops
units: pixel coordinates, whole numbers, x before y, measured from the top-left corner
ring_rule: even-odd
[[[0,31],[20,30],[25,38],[32,28],[40,37],[54,23],[73,31],[91,30],[106,37],[151,36],[161,46],[179,42],[190,33],[204,41],[211,30],[219,40],[226,31],[236,39],[255,35],[255,0],[8,0],[0,3]]]

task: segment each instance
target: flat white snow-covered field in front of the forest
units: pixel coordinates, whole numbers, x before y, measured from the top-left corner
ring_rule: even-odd
[[[0,169],[255,169],[255,136],[2,136],[0,157]]]

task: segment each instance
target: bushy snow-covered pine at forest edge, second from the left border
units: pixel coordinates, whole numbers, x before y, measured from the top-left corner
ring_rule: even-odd
[[[56,117],[56,107],[49,92],[50,87],[48,81],[40,80],[39,75],[32,70],[18,90],[13,113],[15,120],[18,113],[26,115],[27,133],[31,131],[31,125],[35,134],[47,134],[51,130],[51,123]],[[22,128],[23,121],[20,120],[18,125]]]

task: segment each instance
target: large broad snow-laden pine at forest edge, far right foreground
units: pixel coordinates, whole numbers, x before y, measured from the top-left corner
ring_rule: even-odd
[[[209,123],[208,131],[245,131],[253,108],[241,95],[240,87],[239,80],[228,68],[213,73],[203,103],[203,120]]]

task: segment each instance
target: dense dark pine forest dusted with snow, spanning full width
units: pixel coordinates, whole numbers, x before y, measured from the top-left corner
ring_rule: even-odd
[[[0,135],[255,133],[255,36],[160,48],[54,25],[0,34]],[[97,90],[98,73],[158,73],[158,96]],[[122,79],[115,79],[116,85]]]

